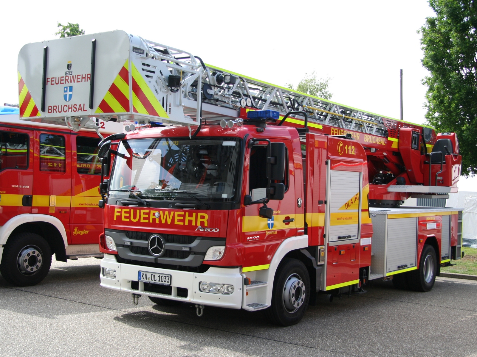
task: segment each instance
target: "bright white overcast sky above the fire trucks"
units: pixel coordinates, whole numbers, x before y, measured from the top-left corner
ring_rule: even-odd
[[[56,23],[86,33],[126,30],[200,56],[206,63],[296,86],[315,70],[330,77],[332,100],[425,122],[427,71],[420,35],[434,16],[425,0],[401,1],[5,1],[0,31],[0,104],[18,103],[17,56],[28,42],[56,38]]]

